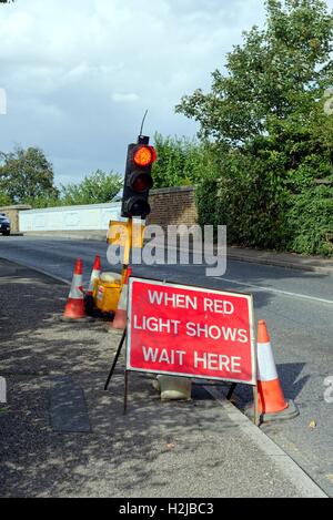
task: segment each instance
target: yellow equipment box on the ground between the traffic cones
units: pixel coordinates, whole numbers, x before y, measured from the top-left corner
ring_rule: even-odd
[[[93,287],[94,306],[102,313],[115,313],[121,292],[121,275],[102,273]]]

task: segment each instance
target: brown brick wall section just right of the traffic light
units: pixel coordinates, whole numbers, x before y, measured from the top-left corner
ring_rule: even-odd
[[[148,224],[162,226],[196,223],[198,213],[194,201],[194,187],[163,187],[151,190],[149,196],[151,214]]]

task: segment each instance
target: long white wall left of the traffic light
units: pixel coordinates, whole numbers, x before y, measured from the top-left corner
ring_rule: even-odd
[[[27,210],[19,212],[19,227],[20,232],[67,230],[107,231],[111,220],[121,220],[120,211],[120,202]]]

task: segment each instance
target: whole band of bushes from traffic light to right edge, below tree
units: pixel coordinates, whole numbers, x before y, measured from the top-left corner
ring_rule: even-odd
[[[229,244],[333,255],[333,188],[314,183],[332,164],[303,133],[240,150],[158,136],[155,186],[194,184],[199,223],[226,225]]]

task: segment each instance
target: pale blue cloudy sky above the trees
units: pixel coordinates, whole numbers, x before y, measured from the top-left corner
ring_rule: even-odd
[[[123,173],[147,109],[151,139],[195,135],[174,105],[208,91],[242,31],[263,23],[263,0],[0,3],[0,151],[42,149],[58,185]]]

